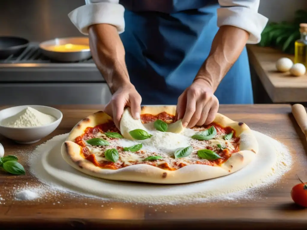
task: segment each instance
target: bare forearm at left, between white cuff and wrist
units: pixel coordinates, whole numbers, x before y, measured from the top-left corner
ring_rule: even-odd
[[[115,26],[95,24],[88,28],[93,60],[113,94],[129,84],[125,63],[125,49]]]

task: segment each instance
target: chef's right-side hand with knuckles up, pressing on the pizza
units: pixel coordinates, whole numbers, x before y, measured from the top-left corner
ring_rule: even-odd
[[[209,84],[196,79],[178,98],[176,117],[182,118],[182,125],[192,128],[195,125],[210,124],[219,109],[219,100]]]

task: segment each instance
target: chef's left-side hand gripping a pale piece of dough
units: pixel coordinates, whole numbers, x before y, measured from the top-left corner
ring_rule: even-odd
[[[119,87],[112,95],[110,102],[104,108],[104,112],[113,117],[116,127],[119,129],[120,119],[126,106],[131,108],[131,114],[134,119],[140,118],[141,95],[135,87],[129,83]]]

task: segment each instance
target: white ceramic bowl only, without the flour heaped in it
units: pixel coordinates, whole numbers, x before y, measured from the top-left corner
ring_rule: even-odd
[[[12,128],[3,126],[2,121],[4,119],[16,115],[27,107],[36,109],[41,113],[52,115],[56,117],[57,120],[49,125],[43,125],[38,127]],[[63,114],[60,110],[44,105],[20,105],[7,109],[2,109],[0,111],[0,134],[20,144],[32,144],[37,141],[40,141],[42,138],[52,133],[59,126],[60,122],[62,121],[62,118]]]

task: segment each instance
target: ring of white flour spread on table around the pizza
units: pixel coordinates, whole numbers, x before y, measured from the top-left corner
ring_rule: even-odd
[[[30,172],[33,174],[40,182],[43,184],[37,187],[29,187],[29,185],[20,187],[18,191],[29,190],[37,194],[36,199],[57,199],[54,197],[60,197],[60,195],[67,197],[86,197],[87,199],[100,199],[101,202],[104,201],[123,201],[123,202],[133,202],[133,203],[147,203],[147,204],[169,204],[181,205],[189,203],[203,203],[203,202],[217,202],[217,201],[228,201],[228,202],[238,202],[244,200],[255,200],[259,198],[259,194],[263,189],[268,188],[273,183],[277,182],[283,174],[290,170],[292,161],[291,155],[287,148],[280,142],[265,136],[259,132],[253,131],[258,142],[270,143],[270,150],[274,151],[272,155],[272,167],[261,168],[259,167],[259,159],[246,168],[230,174],[227,177],[216,178],[204,182],[195,182],[191,184],[184,185],[148,185],[148,184],[138,184],[128,182],[108,182],[105,180],[95,180],[91,178],[89,184],[92,187],[89,191],[80,189],[80,181],[76,180],[76,187],[68,186],[63,183],[59,183],[59,180],[44,172],[44,168],[41,164],[42,156],[55,148],[56,145],[63,143],[68,134],[62,134],[55,136],[51,140],[45,142],[36,147],[36,149],[29,153],[27,163],[30,166]],[[259,145],[259,151],[261,151]],[[58,154],[57,152],[55,152]],[[52,153],[52,154],[55,154]],[[264,153],[259,153],[259,158],[265,157]],[[274,157],[276,156],[276,158]],[[274,158],[274,159],[273,159]],[[59,168],[66,167],[66,162],[61,157],[57,158],[59,161]],[[274,160],[274,161],[273,161]],[[64,163],[63,163],[64,162]],[[257,165],[258,164],[258,165]],[[62,166],[61,166],[62,165]],[[67,164],[68,165],[68,164]],[[70,167],[70,166],[68,166]],[[61,169],[64,170],[64,169]],[[71,170],[69,168],[69,170]],[[254,171],[253,171],[254,170]],[[258,170],[258,171],[255,171]],[[255,172],[255,173],[252,173]],[[64,170],[63,173],[66,173]],[[83,177],[80,172],[79,177]],[[251,174],[252,176],[247,176],[244,174]],[[245,177],[244,177],[245,176]],[[63,176],[64,177],[64,176]],[[83,180],[86,181],[88,177],[84,175]],[[235,178],[243,178],[238,180]],[[63,179],[63,178],[62,178]],[[216,181],[216,182],[214,182]],[[79,183],[79,185],[78,185]],[[114,183],[114,186],[112,185]],[[83,185],[83,187],[89,186],[89,184]],[[78,186],[81,186],[80,188]],[[97,188],[98,186],[98,188]],[[99,188],[108,186],[109,191],[103,191]],[[99,190],[100,189],[100,190]],[[108,193],[109,192],[109,193]],[[15,191],[15,197],[17,191]],[[55,201],[54,205],[60,205],[60,200]]]

